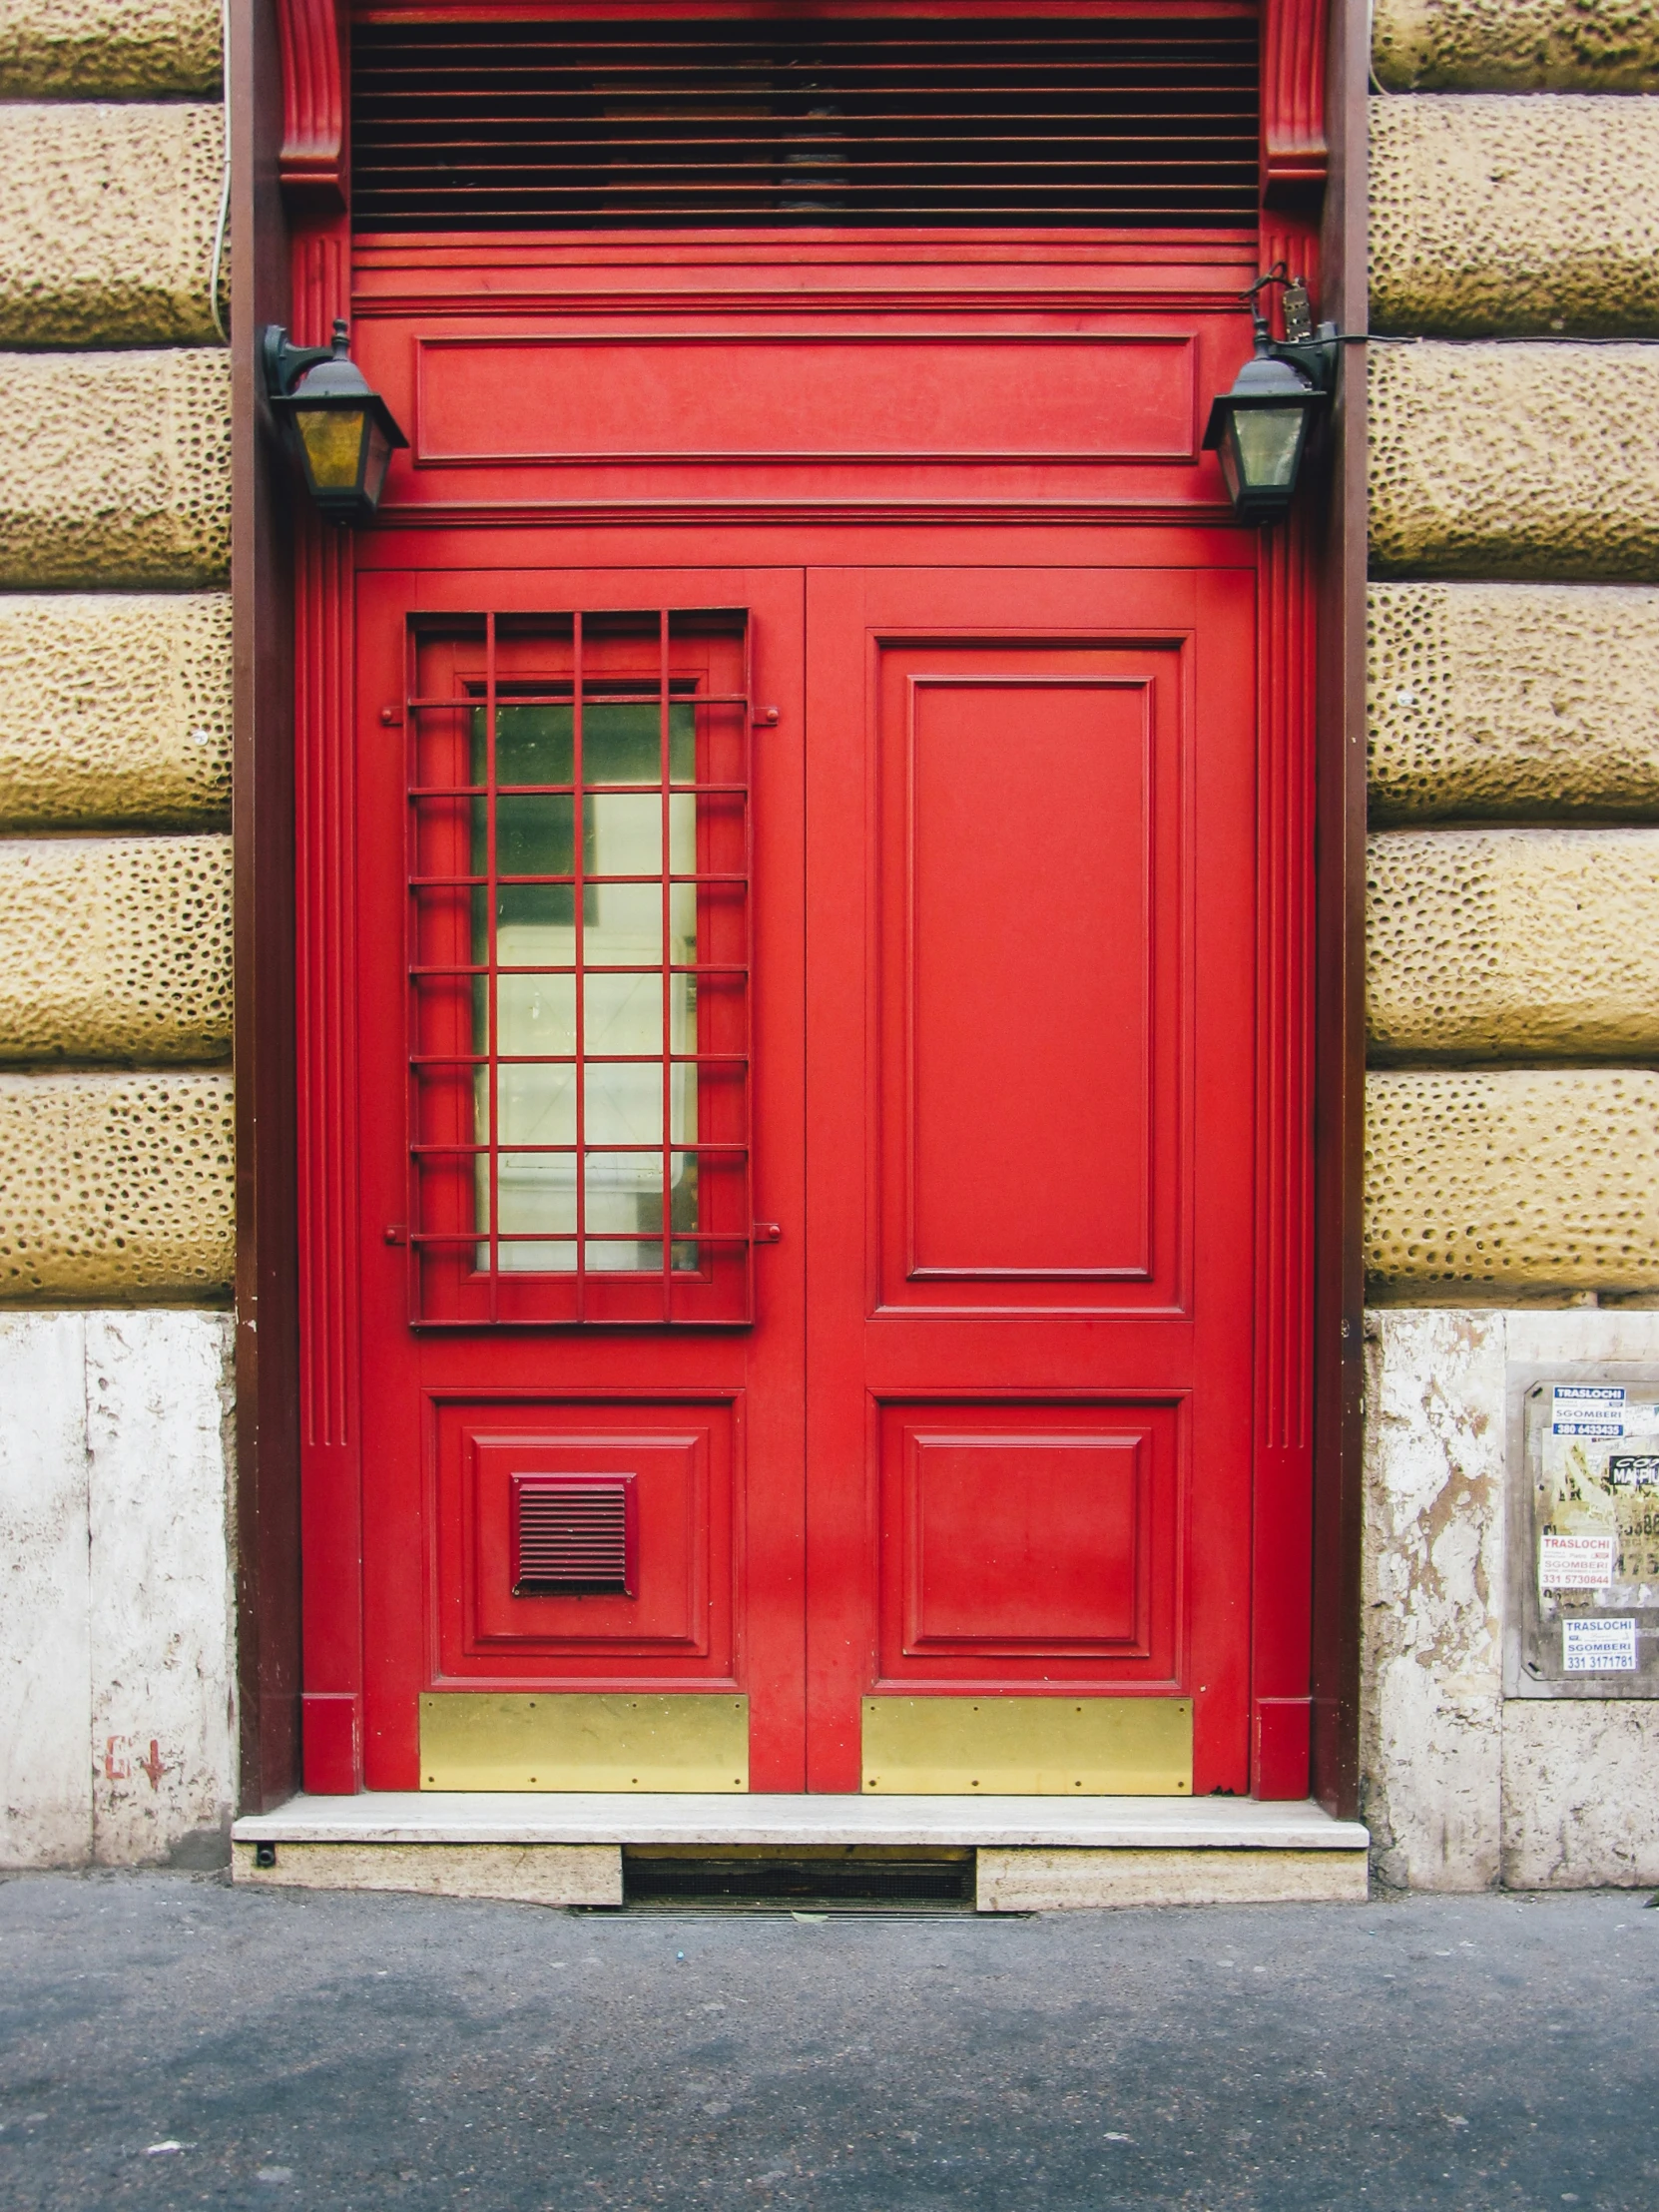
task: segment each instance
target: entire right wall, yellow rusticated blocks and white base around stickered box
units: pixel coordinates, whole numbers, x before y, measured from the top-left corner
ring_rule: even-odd
[[[1502,1644],[1511,1380],[1659,1365],[1659,0],[1378,0],[1374,69],[1365,1816],[1652,1882],[1659,1705]]]

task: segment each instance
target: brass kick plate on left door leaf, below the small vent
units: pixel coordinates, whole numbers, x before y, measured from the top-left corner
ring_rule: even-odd
[[[422,1790],[721,1790],[750,1785],[745,1697],[434,1690]]]

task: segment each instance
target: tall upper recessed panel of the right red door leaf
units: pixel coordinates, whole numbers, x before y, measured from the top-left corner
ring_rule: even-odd
[[[883,1079],[905,1137],[889,1157],[905,1283],[900,1252],[885,1254],[889,1298],[960,1281],[1048,1283],[1053,1301],[1062,1283],[1152,1272],[1157,1186],[1175,1172],[1155,1018],[1159,1040],[1181,1029],[1179,823],[1159,849],[1155,779],[1161,765],[1175,814],[1179,675],[1179,650],[883,648],[883,801],[898,818],[880,920],[885,938],[902,931],[883,947],[902,993],[902,1064]]]

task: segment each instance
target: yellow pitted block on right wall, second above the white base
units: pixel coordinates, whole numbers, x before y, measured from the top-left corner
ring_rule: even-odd
[[[1383,1057],[1659,1057],[1659,830],[1385,830],[1365,960]]]

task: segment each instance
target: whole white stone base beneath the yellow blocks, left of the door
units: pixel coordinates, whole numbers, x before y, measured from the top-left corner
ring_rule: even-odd
[[[226,1314],[0,1316],[0,1865],[223,1856],[230,1343]]]

